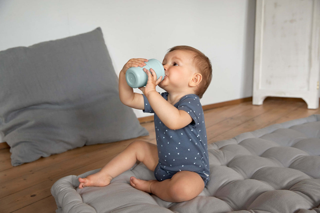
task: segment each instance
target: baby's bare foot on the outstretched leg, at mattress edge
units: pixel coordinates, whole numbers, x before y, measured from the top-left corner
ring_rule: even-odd
[[[95,174],[88,175],[85,178],[79,178],[78,180],[80,182],[79,189],[82,189],[86,186],[108,186],[112,177],[110,175],[97,172]]]

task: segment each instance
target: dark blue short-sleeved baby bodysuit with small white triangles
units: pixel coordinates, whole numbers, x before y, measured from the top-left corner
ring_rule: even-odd
[[[167,100],[167,92],[161,95]],[[143,112],[155,113],[147,97],[143,95],[143,98]],[[174,107],[188,112],[193,121],[181,129],[172,130],[165,126],[155,113],[159,163],[154,175],[158,181],[162,181],[172,178],[178,171],[194,171],[202,177],[206,185],[210,174],[209,157],[204,113],[199,97],[195,94],[185,95]]]

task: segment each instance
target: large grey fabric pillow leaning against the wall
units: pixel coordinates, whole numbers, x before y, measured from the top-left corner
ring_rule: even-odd
[[[0,133],[17,166],[97,143],[148,135],[119,100],[99,28],[0,51]]]

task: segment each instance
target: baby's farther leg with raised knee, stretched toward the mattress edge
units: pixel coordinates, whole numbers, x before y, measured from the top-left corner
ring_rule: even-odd
[[[154,171],[158,164],[156,145],[146,141],[133,141],[100,171],[86,178],[79,178],[79,188],[82,189],[85,186],[107,186],[113,178],[130,169],[137,160],[143,162],[148,169]]]

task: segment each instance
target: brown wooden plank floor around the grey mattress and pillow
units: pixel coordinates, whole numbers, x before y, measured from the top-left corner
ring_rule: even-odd
[[[273,99],[261,106],[244,102],[204,112],[208,143],[312,114],[320,110],[308,110],[300,101]],[[153,122],[142,126],[150,135],[139,139],[155,143]],[[133,140],[76,148],[17,167],[11,165],[8,145],[0,144],[0,212],[54,212],[50,188],[55,181],[101,168]]]

